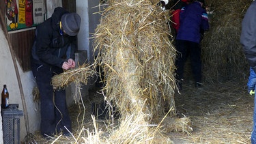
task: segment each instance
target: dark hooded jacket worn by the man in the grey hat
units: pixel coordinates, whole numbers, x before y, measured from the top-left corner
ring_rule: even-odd
[[[76,37],[63,34],[59,21],[68,11],[55,8],[51,18],[38,25],[35,30],[35,42],[32,47],[32,63],[49,64],[62,68],[67,59],[74,59]]]

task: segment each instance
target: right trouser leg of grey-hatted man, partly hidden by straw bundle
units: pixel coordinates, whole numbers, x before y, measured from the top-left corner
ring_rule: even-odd
[[[60,74],[63,72],[61,68],[52,67],[53,74]],[[68,113],[68,106],[66,102],[65,89],[58,89],[55,91],[55,123],[57,126],[57,132],[63,132],[63,134],[69,134],[68,130],[72,132],[71,119]],[[66,128],[68,130],[66,130]]]

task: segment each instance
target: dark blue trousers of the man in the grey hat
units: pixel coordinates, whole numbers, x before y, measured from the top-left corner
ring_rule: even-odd
[[[66,104],[66,91],[65,89],[53,91],[51,85],[51,78],[63,70],[56,66],[35,63],[32,63],[31,68],[40,92],[41,134],[43,136],[46,136],[45,134],[53,136],[57,132],[68,134],[66,128],[70,132],[72,130]]]

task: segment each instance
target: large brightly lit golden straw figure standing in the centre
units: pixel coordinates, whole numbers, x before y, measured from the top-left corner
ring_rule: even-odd
[[[174,104],[175,49],[169,42],[168,12],[158,1],[110,0],[95,33],[106,96],[122,117],[144,113],[158,122]]]

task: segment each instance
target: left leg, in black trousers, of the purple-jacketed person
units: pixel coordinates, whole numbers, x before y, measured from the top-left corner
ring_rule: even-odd
[[[187,42],[185,40],[176,40],[176,50],[177,50],[177,58],[175,61],[175,73],[177,80],[177,87],[182,89],[182,79],[184,74],[184,65],[186,62],[186,51],[187,51]]]

